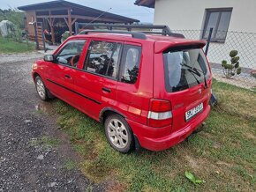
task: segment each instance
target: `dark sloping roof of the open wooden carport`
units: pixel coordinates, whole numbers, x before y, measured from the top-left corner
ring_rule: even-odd
[[[68,1],[64,0],[56,0],[56,1],[50,1],[46,3],[40,3],[40,4],[29,4],[25,6],[19,6],[18,9],[22,11],[40,11],[40,10],[47,10],[51,8],[64,8],[64,7],[69,7],[72,9],[79,9],[83,12],[85,12],[85,15],[90,15],[92,17],[98,17],[99,15],[103,14],[102,18],[116,18],[120,19],[120,21],[124,21],[124,23],[133,23],[133,22],[139,22],[138,19],[134,18],[127,18],[121,15],[101,11],[101,10],[96,10],[94,8],[90,8],[81,4],[74,4]]]

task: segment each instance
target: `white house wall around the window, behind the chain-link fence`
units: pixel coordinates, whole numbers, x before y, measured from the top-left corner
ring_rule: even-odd
[[[156,0],[154,25],[168,25],[190,39],[200,39],[206,9],[210,8],[233,8],[229,31],[242,33],[229,32],[224,43],[212,42],[209,61],[221,63],[229,59],[231,49],[237,49],[241,65],[256,69],[256,0]]]

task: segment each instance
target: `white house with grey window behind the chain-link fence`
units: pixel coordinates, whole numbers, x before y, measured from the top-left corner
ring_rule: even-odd
[[[230,60],[230,50],[237,49],[242,71],[256,69],[255,0],[137,0],[135,4],[154,8],[154,25],[167,25],[186,38],[207,40],[213,28],[211,63]]]

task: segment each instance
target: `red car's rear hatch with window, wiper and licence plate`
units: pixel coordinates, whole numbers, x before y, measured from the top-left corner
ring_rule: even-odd
[[[211,72],[201,47],[201,44],[186,44],[162,51],[165,85],[162,99],[171,104],[172,131],[184,129],[208,105]]]

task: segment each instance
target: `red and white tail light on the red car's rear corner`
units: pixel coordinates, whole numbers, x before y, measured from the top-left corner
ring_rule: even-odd
[[[172,122],[171,105],[169,100],[150,100],[147,125],[161,128]]]

